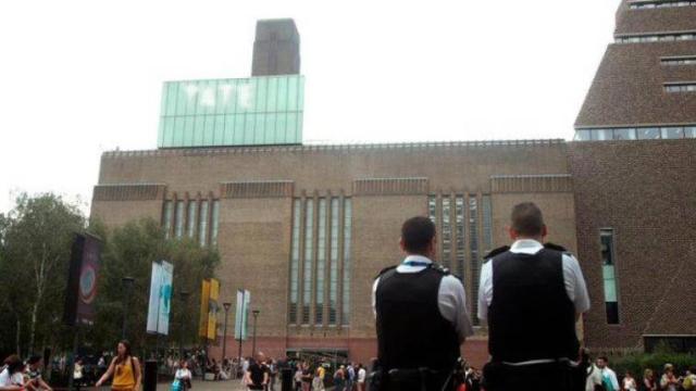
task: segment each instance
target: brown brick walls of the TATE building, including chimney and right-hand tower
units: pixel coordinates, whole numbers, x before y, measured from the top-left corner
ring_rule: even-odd
[[[586,345],[642,350],[663,339],[696,350],[696,93],[668,90],[696,80],[696,40],[629,40],[667,34],[651,24],[671,8],[647,3],[622,2],[617,42],[575,124],[577,141],[105,152],[91,214],[110,227],[151,217],[171,237],[215,245],[221,301],[234,303],[238,289],[251,292],[261,311],[257,345],[265,353],[366,363],[376,354],[371,285],[380,269],[400,262],[406,218],[436,223],[437,261],[462,278],[475,314],[483,254],[508,243],[512,205],[531,200],[545,213],[548,240],[574,252],[586,276],[592,310],[579,327]],[[680,21],[680,31],[696,29],[696,17]],[[259,55],[299,72],[299,36],[282,23],[291,39],[259,50],[291,50]],[[259,74],[273,73],[257,54],[265,70]],[[693,62],[684,60],[689,55]],[[233,335],[231,328],[227,352],[236,352]],[[477,325],[464,355],[481,365],[486,352],[485,325]]]

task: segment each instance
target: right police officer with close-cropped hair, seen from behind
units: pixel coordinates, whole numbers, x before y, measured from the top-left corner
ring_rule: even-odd
[[[478,318],[488,321],[490,362],[486,391],[574,390],[575,321],[589,310],[587,288],[573,255],[543,245],[547,228],[532,202],[512,209],[511,247],[494,250],[481,273]]]

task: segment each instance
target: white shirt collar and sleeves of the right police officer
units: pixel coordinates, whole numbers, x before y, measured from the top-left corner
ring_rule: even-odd
[[[521,239],[512,243],[510,252],[517,254],[536,254],[544,249],[542,243],[532,239]],[[573,255],[563,254],[563,282],[568,298],[575,305],[575,313],[582,314],[589,310],[589,295],[580,264]],[[478,319],[486,321],[488,306],[493,302],[493,263],[486,262],[481,269],[478,285]]]

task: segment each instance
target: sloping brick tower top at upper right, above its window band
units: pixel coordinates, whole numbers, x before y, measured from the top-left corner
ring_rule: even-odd
[[[623,0],[577,140],[696,137],[696,1]]]

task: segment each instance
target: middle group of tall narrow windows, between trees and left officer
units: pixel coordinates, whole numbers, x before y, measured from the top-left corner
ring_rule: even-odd
[[[338,197],[293,201],[290,324],[349,325],[351,206],[350,199]],[[300,291],[302,301],[298,307]]]

